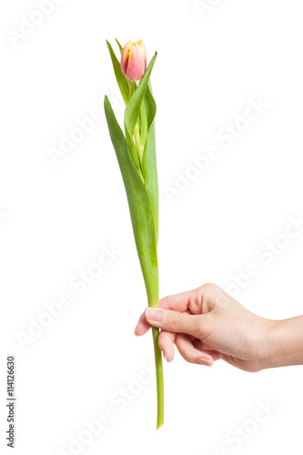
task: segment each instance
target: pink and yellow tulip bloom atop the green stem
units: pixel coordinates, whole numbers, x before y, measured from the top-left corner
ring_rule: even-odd
[[[146,46],[142,39],[128,41],[121,54],[121,71],[131,82],[136,82],[146,72]]]

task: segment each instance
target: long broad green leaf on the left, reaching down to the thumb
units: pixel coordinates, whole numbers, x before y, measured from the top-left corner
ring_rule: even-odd
[[[116,116],[107,96],[105,97],[105,111],[109,133],[116,150],[117,161],[126,188],[128,207],[136,240],[136,250],[146,283],[148,302],[152,306],[157,306],[157,241],[153,210],[146,187],[137,173],[126,145],[126,139],[116,121]]]

